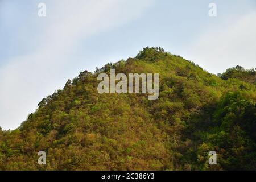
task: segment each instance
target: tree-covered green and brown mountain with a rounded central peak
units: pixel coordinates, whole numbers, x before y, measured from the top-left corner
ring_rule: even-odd
[[[98,93],[97,76],[110,69],[159,73],[158,99]],[[0,170],[255,170],[256,89],[243,80],[144,48],[80,72],[18,129],[0,129]],[[38,164],[39,151],[46,165]],[[208,163],[210,151],[216,165]]]

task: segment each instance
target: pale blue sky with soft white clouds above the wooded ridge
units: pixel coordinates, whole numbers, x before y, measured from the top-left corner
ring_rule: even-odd
[[[0,126],[16,129],[69,78],[146,46],[214,74],[255,68],[256,1],[0,0]]]

